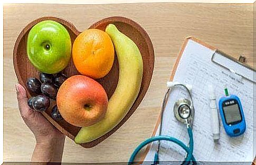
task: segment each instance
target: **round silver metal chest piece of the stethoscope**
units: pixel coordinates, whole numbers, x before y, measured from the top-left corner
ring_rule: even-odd
[[[192,127],[194,108],[191,101],[188,99],[177,100],[174,104],[174,116],[178,121],[189,124],[189,126]]]

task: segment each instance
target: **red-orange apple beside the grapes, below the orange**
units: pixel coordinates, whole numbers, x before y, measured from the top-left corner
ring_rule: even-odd
[[[56,102],[65,121],[77,127],[88,127],[105,116],[108,96],[97,81],[75,75],[60,86]]]

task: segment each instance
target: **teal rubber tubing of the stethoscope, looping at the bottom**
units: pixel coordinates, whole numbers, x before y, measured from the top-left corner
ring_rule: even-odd
[[[187,132],[189,135],[189,147],[187,147],[182,141],[180,141],[176,138],[173,138],[173,137],[164,136],[164,135],[152,137],[138,145],[138,147],[134,150],[134,152],[132,152],[131,157],[128,162],[128,165],[131,165],[134,163],[134,159],[135,159],[136,155],[143,147],[145,147],[145,145],[147,145],[153,141],[159,141],[159,140],[166,140],[166,141],[174,142],[174,143],[178,144],[179,146],[181,146],[187,152],[187,157],[184,160],[184,162],[182,163],[183,165],[189,164],[191,161],[193,162],[193,164],[196,164],[196,160],[193,156],[194,140],[193,140],[192,129],[190,127],[188,127]]]

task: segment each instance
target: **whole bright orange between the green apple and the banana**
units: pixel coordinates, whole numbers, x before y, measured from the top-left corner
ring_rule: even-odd
[[[75,38],[72,57],[79,73],[100,79],[111,70],[115,50],[106,32],[91,28]]]

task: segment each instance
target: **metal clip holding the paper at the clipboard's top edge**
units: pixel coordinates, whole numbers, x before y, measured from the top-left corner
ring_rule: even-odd
[[[246,69],[249,69],[249,70],[252,71],[252,73],[254,74],[254,72],[256,72],[256,70],[254,70],[252,67],[250,67],[249,65],[246,65],[246,64],[244,63],[244,62],[245,62],[245,57],[244,57],[244,56],[240,56],[240,57],[239,57],[239,60],[236,60],[236,59],[234,59],[233,57],[231,57],[231,56],[229,56],[229,55],[227,55],[227,54],[225,54],[225,53],[223,53],[223,52],[221,52],[221,51],[215,49],[215,51],[214,51],[214,53],[213,53],[213,55],[212,55],[211,61],[212,61],[213,63],[215,63],[215,64],[217,64],[217,65],[223,67],[224,69],[229,70],[230,72],[232,72],[232,73],[234,73],[234,74],[236,74],[236,75],[242,77],[243,79],[246,79],[246,80],[248,80],[248,81],[250,81],[250,82],[252,82],[252,83],[254,83],[254,84],[256,83],[255,80],[254,80],[254,76],[253,76],[253,75],[250,77],[250,76],[246,76],[246,75],[240,74],[239,72],[237,72],[237,71],[235,71],[235,70],[233,70],[233,69],[231,69],[231,68],[225,66],[224,64],[221,64],[221,63],[215,61],[214,59],[215,59],[216,54],[222,55],[222,56],[224,56],[226,59],[229,59],[229,60],[231,60],[232,62],[238,63],[238,64],[240,64],[240,65],[246,67]]]

